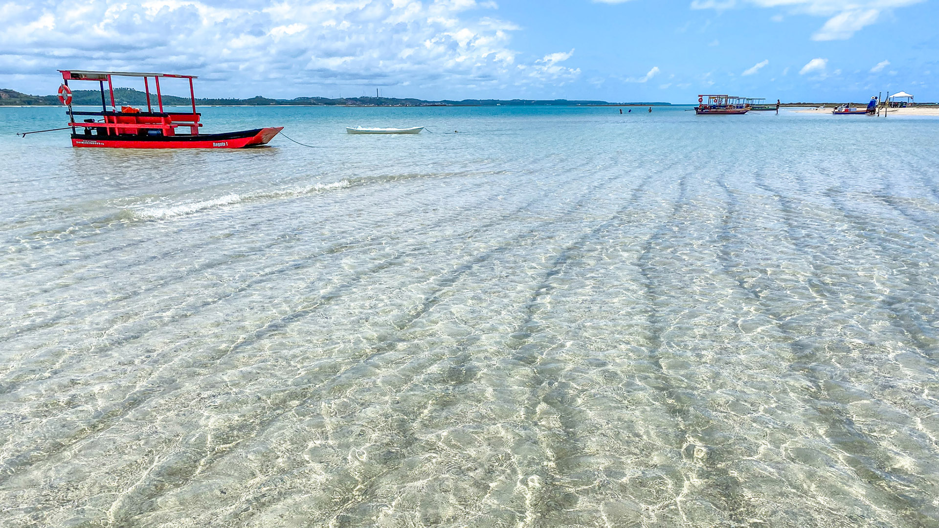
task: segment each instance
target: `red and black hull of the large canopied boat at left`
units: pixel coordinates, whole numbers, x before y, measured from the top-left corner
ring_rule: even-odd
[[[82,148],[246,148],[266,145],[284,127],[199,135],[139,136],[71,134],[71,146]]]

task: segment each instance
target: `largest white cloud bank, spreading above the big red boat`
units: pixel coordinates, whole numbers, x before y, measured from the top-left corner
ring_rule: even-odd
[[[570,54],[520,57],[510,45],[519,27],[495,18],[494,8],[476,0],[8,0],[0,6],[0,80],[67,68],[168,70],[238,78],[240,89],[257,91],[218,95],[250,96],[313,95],[291,86],[331,85],[449,93],[579,75],[559,64]]]

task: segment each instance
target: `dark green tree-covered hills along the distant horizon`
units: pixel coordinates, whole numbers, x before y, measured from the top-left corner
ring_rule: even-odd
[[[163,95],[164,106],[189,106],[192,101],[188,97]],[[105,92],[105,102],[111,103],[111,96]],[[74,90],[72,92],[72,105],[74,106],[100,106],[101,94],[99,90]],[[150,103],[157,104],[157,95],[150,94]],[[295,99],[269,99],[255,96],[251,99],[203,99],[196,98],[196,105],[200,106],[606,106],[612,104],[642,104],[642,105],[669,105],[668,102],[628,102],[612,103],[608,101],[568,101],[558,99],[552,101],[513,99],[502,101],[496,99],[466,99],[463,101],[423,101],[421,99],[398,99],[391,97],[355,97],[329,99],[324,97],[298,97]],[[54,95],[27,95],[15,90],[0,89],[0,106],[49,106],[59,105]],[[115,104],[146,108],[146,93],[133,88],[115,88]]]

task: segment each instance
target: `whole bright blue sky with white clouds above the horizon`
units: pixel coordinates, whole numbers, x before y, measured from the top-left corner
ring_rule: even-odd
[[[6,0],[0,86],[161,70],[197,95],[939,100],[937,0]],[[173,91],[172,88],[169,91]],[[183,90],[177,90],[180,93]]]

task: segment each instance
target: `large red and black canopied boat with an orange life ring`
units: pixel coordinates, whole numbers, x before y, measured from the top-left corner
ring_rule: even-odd
[[[195,111],[193,75],[171,73],[135,73],[131,71],[59,70],[63,84],[59,86],[59,101],[69,107],[72,147],[92,148],[245,148],[267,144],[284,127],[269,127],[250,131],[199,133],[201,114]],[[146,93],[146,112],[131,106],[117,110],[112,77],[143,77]],[[150,101],[148,78],[153,77],[157,88],[157,109]],[[160,91],[161,78],[188,79],[192,112],[163,111]],[[75,112],[71,108],[69,81],[97,81],[101,90],[100,112]],[[104,83],[111,95],[111,110],[104,99]],[[90,117],[87,117],[90,116]],[[177,129],[189,129],[178,133]],[[79,132],[78,129],[84,129]]]

